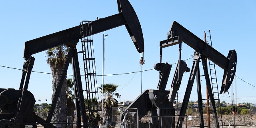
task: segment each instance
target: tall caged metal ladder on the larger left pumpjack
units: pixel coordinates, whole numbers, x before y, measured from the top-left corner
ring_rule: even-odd
[[[87,96],[87,106],[89,117],[91,120],[92,112],[100,111],[98,109],[98,104],[94,102],[98,101],[98,87],[96,80],[96,68],[95,68],[95,58],[94,58],[94,48],[92,40],[92,22],[82,21],[80,22],[80,34],[82,36],[82,51],[78,53],[83,54],[84,60],[84,76],[86,82],[86,96]]]

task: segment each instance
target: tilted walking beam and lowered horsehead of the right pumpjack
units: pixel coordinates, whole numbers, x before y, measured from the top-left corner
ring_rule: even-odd
[[[181,26],[178,22],[173,21],[168,32],[168,39],[160,41],[160,48],[180,44],[180,42],[186,43],[196,50],[196,52],[224,69],[220,94],[226,93],[230,88],[236,73],[236,50],[230,50],[226,57]]]

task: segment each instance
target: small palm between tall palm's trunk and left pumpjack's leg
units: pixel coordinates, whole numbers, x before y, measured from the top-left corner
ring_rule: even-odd
[[[74,90],[74,82],[72,81],[72,78],[67,79],[67,88],[66,88],[66,98],[67,98],[67,116],[74,117],[74,110],[76,109],[74,98],[75,95],[73,93]]]

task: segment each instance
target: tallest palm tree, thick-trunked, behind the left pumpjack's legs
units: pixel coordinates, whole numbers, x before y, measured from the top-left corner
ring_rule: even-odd
[[[60,79],[60,74],[62,72],[62,68],[64,67],[65,60],[67,57],[68,49],[66,46],[61,45],[54,48],[50,48],[47,52],[47,64],[50,65],[50,68],[52,70],[52,100],[53,96],[56,91],[57,83]],[[67,81],[64,80],[60,96],[58,98],[56,108],[54,110],[54,114],[52,116],[52,121],[56,121],[56,123],[59,123],[58,121],[66,121],[66,105],[67,105],[67,98],[66,98],[66,87],[67,87]],[[61,125],[62,128],[65,126]]]

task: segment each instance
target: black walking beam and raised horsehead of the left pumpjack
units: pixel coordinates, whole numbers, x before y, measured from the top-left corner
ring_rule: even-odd
[[[142,29],[132,5],[128,0],[120,0],[118,2],[118,8],[118,14],[92,21],[92,34],[97,34],[99,32],[125,25],[138,52],[144,52]],[[81,38],[80,26],[75,26],[73,28],[68,28],[60,32],[55,32],[53,34],[27,41],[25,42],[24,58],[32,54],[48,50],[49,48],[66,44],[68,42],[74,42]]]

